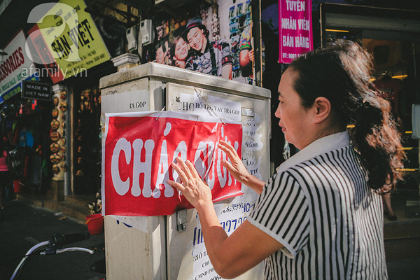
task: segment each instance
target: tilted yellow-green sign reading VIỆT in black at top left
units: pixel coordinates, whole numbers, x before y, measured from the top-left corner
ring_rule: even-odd
[[[81,76],[83,71],[110,59],[106,45],[85,8],[83,0],[61,0],[38,5],[29,14],[28,22],[37,23],[29,34],[39,55],[40,62],[37,63],[51,68],[48,73],[53,83]],[[36,15],[41,12],[45,15],[38,20]]]

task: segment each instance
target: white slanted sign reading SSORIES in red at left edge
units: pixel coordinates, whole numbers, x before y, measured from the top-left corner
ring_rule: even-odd
[[[29,73],[34,64],[25,52],[25,41],[20,30],[4,48],[8,55],[0,62],[0,103],[21,92],[22,80],[38,80],[36,73]]]

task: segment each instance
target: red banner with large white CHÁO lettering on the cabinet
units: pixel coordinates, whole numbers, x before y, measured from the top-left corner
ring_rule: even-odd
[[[213,201],[241,195],[241,183],[223,167],[223,139],[241,156],[242,125],[187,113],[109,114],[103,150],[104,213],[170,215],[192,206],[167,180],[180,181],[171,163],[190,160],[211,188]]]

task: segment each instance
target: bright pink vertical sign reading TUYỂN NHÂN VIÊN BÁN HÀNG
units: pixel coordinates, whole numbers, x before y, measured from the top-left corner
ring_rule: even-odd
[[[279,63],[313,49],[312,1],[279,0]]]

